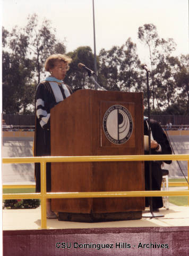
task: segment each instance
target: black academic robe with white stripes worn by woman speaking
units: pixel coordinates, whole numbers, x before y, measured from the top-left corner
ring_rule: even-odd
[[[50,109],[70,96],[72,90],[63,83],[41,82],[36,90],[36,127],[34,156],[50,156]],[[46,167],[47,192],[51,190],[50,163]],[[36,192],[40,192],[40,164],[35,163]]]

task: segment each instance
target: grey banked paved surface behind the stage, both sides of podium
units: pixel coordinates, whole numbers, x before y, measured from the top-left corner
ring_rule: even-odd
[[[3,157],[27,157],[32,156],[33,136],[30,135],[19,137],[3,137]],[[27,135],[24,134],[23,135]],[[30,136],[30,137],[29,137]],[[189,154],[189,135],[170,135],[171,145],[175,154]],[[187,162],[179,162],[185,175],[187,175]],[[183,174],[179,169],[178,163],[173,161],[172,164],[164,166],[169,170],[169,178],[183,178]],[[3,164],[2,169],[3,183],[35,183],[34,178],[34,164]]]

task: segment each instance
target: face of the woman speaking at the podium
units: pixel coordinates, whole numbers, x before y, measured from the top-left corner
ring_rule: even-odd
[[[54,68],[50,69],[50,75],[56,77],[59,80],[63,80],[67,70],[68,70],[68,65],[66,62],[57,61]]]

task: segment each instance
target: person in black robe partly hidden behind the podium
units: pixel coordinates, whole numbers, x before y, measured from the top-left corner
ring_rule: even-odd
[[[163,155],[163,154],[172,154],[172,150],[169,144],[169,140],[162,129],[161,125],[150,119],[151,127],[151,154],[152,155]],[[144,135],[148,135],[149,131],[149,119],[144,117]],[[147,150],[144,151],[144,154],[149,154]],[[172,161],[151,161],[151,170],[152,170],[152,190],[161,190],[162,182],[162,170],[161,165],[165,162],[170,164]],[[145,190],[150,190],[150,175],[149,175],[149,161],[144,162],[145,169]],[[145,197],[145,206],[150,205],[150,198]],[[163,205],[162,197],[152,197],[152,209],[153,211],[159,211]]]

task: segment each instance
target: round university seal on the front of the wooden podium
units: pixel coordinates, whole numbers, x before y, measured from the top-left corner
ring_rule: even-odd
[[[111,143],[125,143],[133,132],[133,119],[130,112],[122,105],[109,107],[103,118],[103,129]]]

